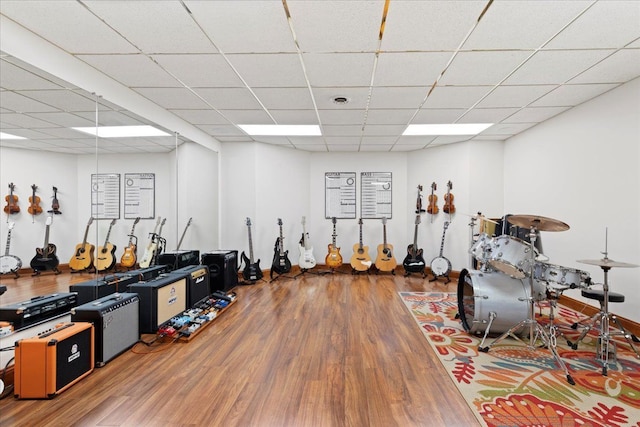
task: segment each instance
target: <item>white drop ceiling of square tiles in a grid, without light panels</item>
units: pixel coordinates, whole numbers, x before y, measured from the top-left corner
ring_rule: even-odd
[[[105,153],[186,139],[325,152],[506,140],[640,76],[635,0],[2,0],[0,14],[69,59],[62,79],[12,51],[20,32],[3,33],[1,130],[27,139],[2,145],[69,153],[95,152],[71,127],[95,124],[96,109],[101,125],[174,135],[110,140]],[[83,70],[111,89],[95,93]],[[123,94],[144,102],[124,107]],[[273,123],[318,124],[323,136],[238,126]],[[402,135],[421,123],[495,124],[473,137]]]

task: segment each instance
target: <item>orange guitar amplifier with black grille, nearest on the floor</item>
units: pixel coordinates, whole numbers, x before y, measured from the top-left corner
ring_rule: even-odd
[[[14,394],[51,399],[93,372],[91,323],[65,323],[16,342]]]

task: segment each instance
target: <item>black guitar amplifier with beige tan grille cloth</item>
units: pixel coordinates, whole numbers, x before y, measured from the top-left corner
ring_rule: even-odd
[[[187,274],[165,274],[147,282],[129,285],[140,298],[140,332],[155,334],[158,326],[185,311]]]

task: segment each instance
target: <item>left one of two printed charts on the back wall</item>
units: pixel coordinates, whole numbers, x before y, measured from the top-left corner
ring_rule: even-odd
[[[356,217],[356,173],[326,172],[324,174],[325,218]]]

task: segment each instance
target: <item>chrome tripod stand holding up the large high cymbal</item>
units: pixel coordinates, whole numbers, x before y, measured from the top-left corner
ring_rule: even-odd
[[[478,347],[478,351],[481,351],[483,353],[488,353],[491,347],[500,343],[502,340],[504,340],[509,336],[516,339],[517,341],[524,343],[524,341],[518,335],[516,335],[516,332],[527,327],[529,329],[529,344],[528,344],[529,349],[531,350],[536,349],[535,344],[539,338],[542,341],[543,346],[547,347],[551,351],[560,369],[564,371],[564,374],[567,378],[567,382],[571,385],[575,385],[576,382],[571,377],[571,374],[569,374],[569,370],[567,369],[567,366],[564,364],[564,362],[560,358],[560,355],[558,354],[558,351],[556,350],[555,336],[553,336],[553,338],[549,336],[549,334],[547,334],[547,331],[544,329],[544,327],[540,323],[538,323],[538,321],[535,319],[535,302],[533,298],[533,294],[534,294],[533,268],[535,264],[536,228],[533,225],[531,226],[531,230],[529,232],[529,240],[530,240],[529,244],[531,245],[531,250],[529,251],[531,262],[529,264],[529,296],[526,298],[526,300],[529,303],[528,316],[526,319],[520,321],[517,325],[514,325],[511,328],[509,328],[506,332],[504,332],[502,335],[496,338],[488,346]]]

